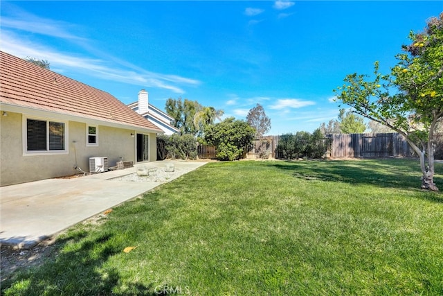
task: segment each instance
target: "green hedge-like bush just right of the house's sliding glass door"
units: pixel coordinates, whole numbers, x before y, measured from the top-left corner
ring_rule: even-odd
[[[170,159],[197,159],[197,139],[192,134],[161,135],[166,155]]]

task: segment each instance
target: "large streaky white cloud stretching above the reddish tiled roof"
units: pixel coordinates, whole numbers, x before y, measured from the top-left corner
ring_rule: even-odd
[[[147,71],[130,62],[110,55],[76,31],[82,30],[75,24],[65,21],[45,19],[30,14],[15,6],[6,6],[13,16],[1,19],[1,51],[19,58],[32,57],[47,60],[51,70],[58,72],[78,71],[85,75],[116,82],[159,87],[183,94],[181,85],[199,85],[201,82],[192,78]],[[26,40],[22,32],[46,35],[68,42],[71,46],[80,46],[84,53],[61,52],[45,44]],[[73,47],[73,46],[71,46]],[[97,58],[96,58],[97,57]]]

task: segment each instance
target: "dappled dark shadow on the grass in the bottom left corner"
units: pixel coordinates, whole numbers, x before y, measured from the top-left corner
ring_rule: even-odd
[[[159,295],[153,284],[128,284],[125,293],[116,268],[105,267],[110,256],[122,252],[112,234],[73,231],[55,241],[55,252],[42,265],[17,270],[1,283],[1,295]]]

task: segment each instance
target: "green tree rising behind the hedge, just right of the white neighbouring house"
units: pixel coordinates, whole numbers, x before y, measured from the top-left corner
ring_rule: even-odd
[[[177,100],[168,98],[165,105],[166,113],[174,119],[172,125],[180,130],[180,134],[197,134],[194,125],[194,117],[201,110],[202,106],[197,101],[190,101],[185,98]]]

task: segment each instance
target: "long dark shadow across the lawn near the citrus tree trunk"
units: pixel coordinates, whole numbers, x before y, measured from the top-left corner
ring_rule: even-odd
[[[382,188],[421,191],[419,189],[421,185],[419,162],[413,159],[286,161],[269,163],[268,166],[289,171],[293,177],[303,180],[367,184]],[[435,164],[435,168],[435,171],[443,171],[442,164]],[[443,187],[440,175],[434,176],[434,182],[440,188]],[[429,199],[443,202],[440,192],[429,193]]]

